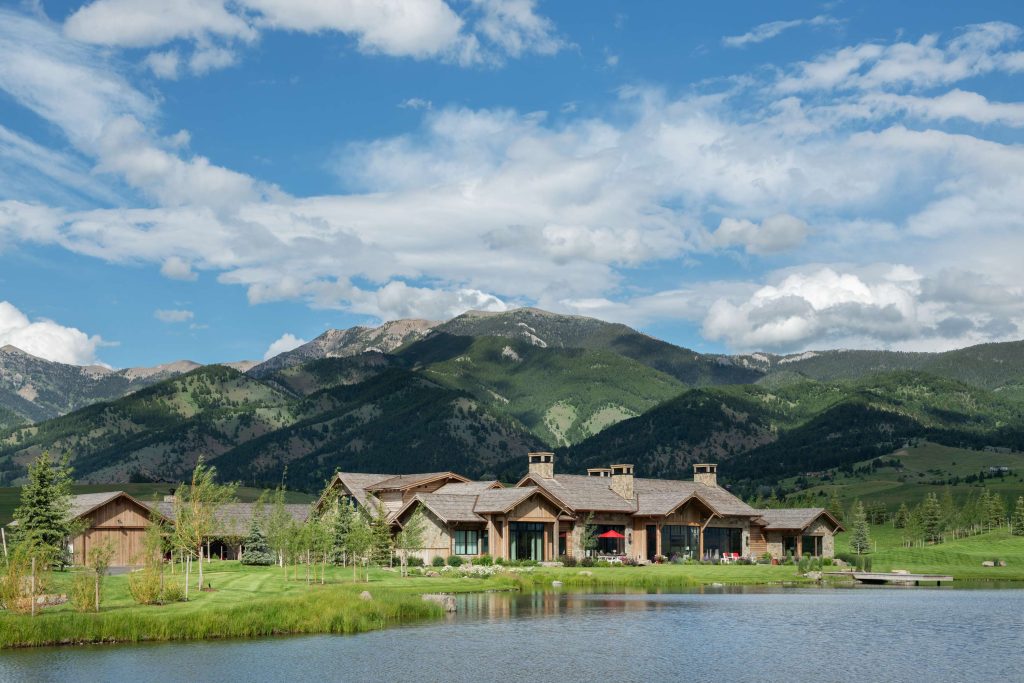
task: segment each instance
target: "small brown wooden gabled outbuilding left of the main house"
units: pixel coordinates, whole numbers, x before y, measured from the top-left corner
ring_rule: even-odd
[[[111,566],[142,564],[142,537],[153,515],[167,521],[162,514],[123,490],[75,496],[71,516],[88,524],[82,533],[71,540],[75,564],[87,563],[89,551],[106,543],[115,548]]]

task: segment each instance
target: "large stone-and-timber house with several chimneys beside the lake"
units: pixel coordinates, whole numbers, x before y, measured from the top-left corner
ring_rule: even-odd
[[[693,480],[682,481],[636,477],[628,464],[556,475],[554,460],[528,454],[527,474],[509,487],[453,472],[338,473],[329,490],[355,505],[383,505],[396,527],[422,509],[427,561],[579,557],[586,523],[596,527],[598,554],[638,561],[831,557],[843,528],[823,508],[756,510],[718,485],[713,464],[694,465]]]

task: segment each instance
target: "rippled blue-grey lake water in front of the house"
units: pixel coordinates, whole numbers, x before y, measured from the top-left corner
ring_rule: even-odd
[[[460,596],[357,636],[0,653],[2,681],[1022,681],[1024,591]]]

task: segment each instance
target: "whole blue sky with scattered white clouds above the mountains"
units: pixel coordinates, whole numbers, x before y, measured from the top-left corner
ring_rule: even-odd
[[[1024,337],[1024,3],[0,0],[0,344]]]

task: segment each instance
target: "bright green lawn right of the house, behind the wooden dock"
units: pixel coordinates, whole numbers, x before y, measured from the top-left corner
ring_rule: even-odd
[[[850,535],[836,538],[836,552],[849,553]],[[989,531],[924,548],[904,548],[903,529],[871,526],[876,549],[869,553],[871,569],[908,569],[921,573],[950,574],[957,580],[1024,581],[1024,537]],[[1005,567],[983,567],[985,560],[1006,560]]]

